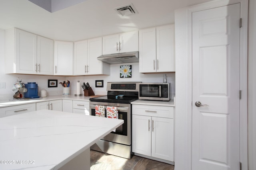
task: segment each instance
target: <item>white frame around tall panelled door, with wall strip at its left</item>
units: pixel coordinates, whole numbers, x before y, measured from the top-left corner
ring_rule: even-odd
[[[175,24],[177,23],[175,30],[180,30],[177,34],[175,33],[175,44],[177,45],[175,49],[175,164],[177,169],[191,170],[192,168],[192,12],[236,3],[240,3],[240,18],[242,18],[242,27],[240,28],[240,90],[242,91],[240,100],[240,162],[242,162],[242,169],[248,170],[248,0],[214,0],[175,11]],[[180,27],[183,27],[183,29],[180,29]],[[185,33],[181,31],[185,31]],[[183,78],[180,78],[181,76]],[[180,86],[180,88],[177,86]],[[179,111],[184,113],[179,113]],[[184,141],[181,141],[182,139]]]

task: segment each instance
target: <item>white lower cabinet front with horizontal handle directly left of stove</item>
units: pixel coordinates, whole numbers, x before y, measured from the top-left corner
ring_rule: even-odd
[[[88,101],[73,100],[73,113],[90,115],[90,104]]]

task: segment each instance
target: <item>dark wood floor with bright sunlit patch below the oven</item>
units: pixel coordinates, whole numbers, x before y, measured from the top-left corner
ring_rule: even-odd
[[[131,159],[90,151],[91,170],[174,170],[174,166],[156,160],[132,156]]]

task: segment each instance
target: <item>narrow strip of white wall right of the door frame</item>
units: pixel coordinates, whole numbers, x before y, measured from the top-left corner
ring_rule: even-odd
[[[248,35],[248,166],[256,170],[256,2],[249,0]]]

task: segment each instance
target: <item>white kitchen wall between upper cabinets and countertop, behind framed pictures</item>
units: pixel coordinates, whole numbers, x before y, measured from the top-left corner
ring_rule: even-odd
[[[97,75],[97,76],[42,76],[42,75],[26,75],[26,74],[5,74],[4,69],[4,30],[0,29],[0,82],[6,83],[5,89],[0,89],[0,100],[11,99],[13,93],[11,92],[12,84],[17,78],[22,79],[22,82],[36,82],[38,89],[45,88],[50,95],[61,95],[62,86],[58,84],[57,88],[48,88],[48,79],[58,80],[63,82],[64,80],[70,81],[71,94],[76,94],[76,82],[88,82],[92,87],[95,94],[106,94],[107,82],[163,82],[164,74],[141,74],[139,73],[139,64],[130,63],[125,65],[132,65],[132,77],[120,78],[120,65],[124,64],[112,64],[110,66],[110,75]],[[103,88],[95,87],[95,80],[104,80]],[[172,98],[175,93],[175,73],[167,74],[167,82],[171,83]],[[82,87],[81,87],[82,92]]]

